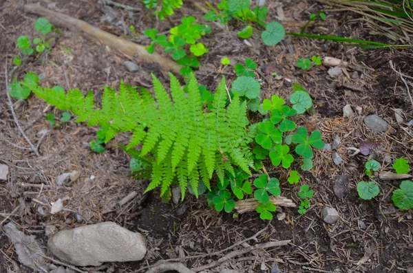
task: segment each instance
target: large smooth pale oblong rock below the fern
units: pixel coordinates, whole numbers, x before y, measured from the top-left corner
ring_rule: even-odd
[[[61,261],[78,266],[140,261],[147,252],[142,234],[114,222],[62,230],[49,239],[47,248]]]

